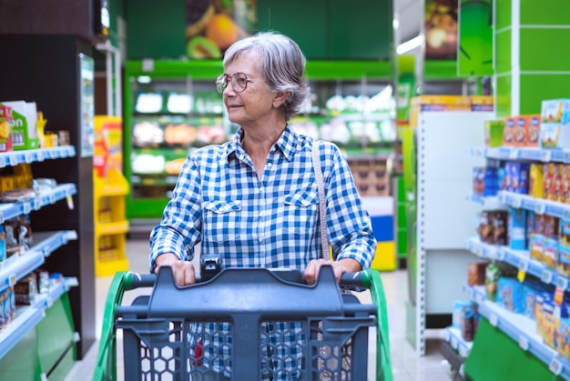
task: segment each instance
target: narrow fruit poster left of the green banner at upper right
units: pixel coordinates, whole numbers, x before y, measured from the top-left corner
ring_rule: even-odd
[[[425,0],[425,59],[457,58],[458,0]]]

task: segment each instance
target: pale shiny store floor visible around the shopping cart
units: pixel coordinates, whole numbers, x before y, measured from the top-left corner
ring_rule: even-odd
[[[148,241],[144,239],[127,240],[127,256],[129,258],[130,270],[147,273],[148,272]],[[447,366],[443,356],[439,352],[441,345],[440,331],[428,330],[428,336],[433,337],[427,340],[427,355],[418,356],[404,336],[405,312],[404,303],[407,296],[407,279],[405,270],[393,272],[382,272],[382,284],[386,294],[388,305],[388,319],[390,325],[390,345],[392,352],[392,372],[394,381],[444,381],[451,380],[449,366]],[[112,277],[97,277],[96,299],[97,299],[97,337],[100,335],[102,317],[105,309],[105,299]],[[136,294],[131,292],[131,294]],[[362,293],[362,298],[370,296]],[[129,303],[136,295],[125,295],[123,302]],[[371,347],[371,351],[375,347]],[[98,342],[96,342],[87,352],[87,356],[81,361],[77,361],[65,381],[91,380],[97,362]],[[121,356],[117,356],[117,366],[122,366]],[[122,367],[118,369],[119,380],[122,379]]]

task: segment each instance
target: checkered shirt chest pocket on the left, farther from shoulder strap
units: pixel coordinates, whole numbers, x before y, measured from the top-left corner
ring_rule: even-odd
[[[204,203],[202,236],[206,241],[227,242],[239,236],[241,202],[212,200]]]

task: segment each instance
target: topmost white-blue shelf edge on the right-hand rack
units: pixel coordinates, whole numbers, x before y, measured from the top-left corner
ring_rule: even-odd
[[[472,147],[471,155],[499,160],[529,160],[570,163],[570,150],[534,147]]]

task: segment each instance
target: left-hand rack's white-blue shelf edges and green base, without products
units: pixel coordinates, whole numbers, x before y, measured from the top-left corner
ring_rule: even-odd
[[[73,157],[75,148],[70,145],[53,147],[46,150],[34,149],[20,152],[0,154],[0,165],[32,164],[46,159]],[[17,216],[29,215],[42,208],[49,208],[58,202],[66,201],[68,207],[73,206],[72,197],[76,195],[75,184],[59,184],[54,188],[40,192],[37,196],[25,201],[0,204],[0,223]],[[24,253],[7,258],[0,263],[0,292],[15,286],[16,282],[27,276],[40,266],[46,265],[46,258],[52,253],[57,255],[60,247],[77,239],[75,230],[53,232],[33,232],[35,244]],[[61,320],[61,311],[69,314],[70,306],[67,292],[70,287],[78,286],[76,277],[65,277],[51,286],[46,293],[38,294],[30,306],[18,306],[15,318],[0,331],[0,377],[17,376],[21,379],[46,378],[47,374],[66,373],[70,361],[76,357],[76,342],[80,335],[76,333],[73,322]],[[56,304],[56,309],[52,307]],[[45,332],[43,325],[53,326],[57,330]],[[50,331],[47,328],[47,331]],[[54,342],[54,335],[58,335]],[[29,343],[29,337],[36,336],[35,343]],[[50,343],[50,344],[46,344]],[[57,344],[55,344],[57,343]],[[44,346],[54,346],[52,353],[46,353]],[[25,356],[35,361],[37,366],[15,366],[13,356]]]

